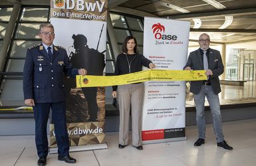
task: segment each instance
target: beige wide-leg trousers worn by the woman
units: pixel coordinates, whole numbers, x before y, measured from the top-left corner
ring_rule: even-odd
[[[132,145],[142,145],[142,105],[144,84],[118,86],[118,105],[120,111],[119,144],[128,145],[129,118],[132,111]],[[132,107],[132,109],[130,109]]]

